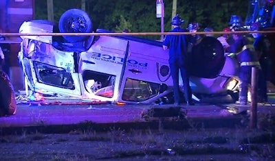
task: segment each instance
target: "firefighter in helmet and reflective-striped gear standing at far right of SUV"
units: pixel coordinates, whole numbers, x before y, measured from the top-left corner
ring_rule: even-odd
[[[236,18],[236,19],[234,19]],[[231,17],[230,25],[232,25],[231,31],[241,31],[241,21],[239,16],[234,15]],[[256,57],[256,52],[254,50],[253,41],[251,41],[247,36],[241,33],[232,34],[234,43],[225,50],[230,53],[230,57],[236,58],[240,65],[239,78],[241,80],[240,93],[239,93],[239,103],[240,105],[248,104],[248,86],[251,81],[252,67],[256,66],[260,68],[260,63]]]

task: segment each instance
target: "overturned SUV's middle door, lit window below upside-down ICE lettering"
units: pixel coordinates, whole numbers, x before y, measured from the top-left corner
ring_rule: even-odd
[[[115,36],[100,36],[87,52],[81,53],[79,72],[84,95],[101,101],[118,99],[127,44],[127,40]]]

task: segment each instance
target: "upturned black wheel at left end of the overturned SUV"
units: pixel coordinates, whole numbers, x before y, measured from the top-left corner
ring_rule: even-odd
[[[91,19],[83,10],[71,9],[64,12],[59,20],[61,33],[89,33],[92,29]],[[63,36],[68,42],[79,42],[87,36]]]

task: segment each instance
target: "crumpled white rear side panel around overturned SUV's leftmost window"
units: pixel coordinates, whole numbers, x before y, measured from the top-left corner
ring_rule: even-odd
[[[27,40],[23,46],[28,48],[23,49],[23,71],[32,90],[80,97],[74,53],[59,51],[37,40]]]

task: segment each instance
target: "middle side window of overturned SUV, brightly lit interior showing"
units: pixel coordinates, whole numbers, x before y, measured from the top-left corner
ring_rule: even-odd
[[[85,88],[89,93],[102,97],[113,97],[115,75],[85,71],[83,73]]]

